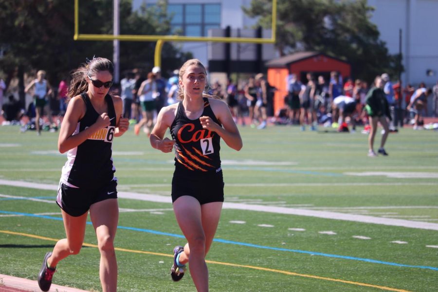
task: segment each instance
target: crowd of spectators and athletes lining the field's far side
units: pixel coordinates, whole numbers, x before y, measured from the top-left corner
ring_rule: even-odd
[[[406,124],[413,125],[414,129],[421,129],[423,117],[428,112],[427,98],[430,95],[433,95],[432,115],[438,116],[438,81],[430,89],[424,83],[420,83],[418,87],[411,84],[402,87],[400,81],[393,83],[387,73],[383,73],[381,77],[390,109],[389,131],[397,132],[398,127]],[[1,93],[5,88],[3,83],[1,80]],[[65,95],[68,84],[69,78],[62,76],[57,88],[50,88],[53,93],[45,97],[51,111],[59,116],[66,110]],[[135,128],[136,133],[139,133],[140,128],[148,133],[159,110],[178,101],[178,87],[178,70],[165,79],[161,75],[161,69],[154,67],[150,72],[139,69],[125,72],[113,90],[124,101],[124,116],[130,119],[131,124],[139,125]],[[276,89],[269,84],[263,73],[238,80],[228,78],[223,84],[219,80],[210,80],[206,90],[223,99],[229,105],[235,121],[242,126],[263,129],[271,121],[274,124],[297,125],[302,131],[307,128],[317,130],[318,126],[333,127],[339,131],[348,131],[350,127],[349,131],[354,131],[356,125],[365,126],[366,131],[368,116],[364,108],[366,94],[370,89],[365,80],[343,78],[337,72],[329,75],[307,73],[302,80],[291,74],[287,82],[288,94],[284,97],[285,106],[277,112],[274,112]],[[2,108],[4,123],[15,123],[13,121],[19,121],[23,116],[35,118],[33,103],[29,103],[24,109],[19,106],[17,97],[11,99],[10,96],[8,101],[4,100],[2,103],[5,105]],[[12,113],[13,110],[16,112]],[[47,107],[44,111],[51,112]]]

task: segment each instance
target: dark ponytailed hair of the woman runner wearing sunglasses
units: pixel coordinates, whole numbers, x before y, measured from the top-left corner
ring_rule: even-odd
[[[111,75],[114,74],[114,66],[109,59],[93,58],[88,64],[81,65],[72,73],[72,81],[70,82],[69,91],[67,93],[67,101],[74,96],[88,90],[87,75],[94,76],[98,72],[108,71]]]

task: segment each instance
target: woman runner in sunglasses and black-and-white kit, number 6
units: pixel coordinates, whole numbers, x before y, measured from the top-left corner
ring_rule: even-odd
[[[89,212],[100,251],[102,291],[117,290],[113,241],[119,209],[111,145],[114,137],[128,130],[129,121],[122,116],[122,99],[108,94],[113,75],[111,61],[87,61],[86,67],[72,75],[67,94],[69,106],[58,138],[59,152],[68,151],[56,198],[67,238],[59,240],[44,257],[38,274],[42,291],[50,289],[58,262],[79,253]]]

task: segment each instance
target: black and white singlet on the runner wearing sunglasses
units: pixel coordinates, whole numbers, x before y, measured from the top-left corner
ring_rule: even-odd
[[[90,97],[86,93],[82,93],[81,97],[87,110],[77,123],[73,135],[93,125],[100,116],[94,110]],[[116,114],[110,95],[105,96],[105,102],[108,105],[110,126],[97,130],[85,142],[67,152],[61,182],[76,187],[99,188],[113,179],[115,167],[112,164],[112,140],[116,128]]]

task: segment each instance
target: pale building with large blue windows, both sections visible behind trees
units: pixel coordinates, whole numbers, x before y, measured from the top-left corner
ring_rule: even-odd
[[[154,4],[156,0],[133,0],[133,8],[141,3]],[[241,10],[251,0],[169,0],[169,9],[175,12],[172,26],[182,29],[186,36],[207,36],[208,29],[230,26],[248,28],[256,23]],[[399,31],[402,30],[402,55],[405,73],[404,85],[417,87],[420,82],[433,86],[438,80],[438,0],[368,0],[375,7],[371,21],[390,54],[399,53]],[[191,51],[204,64],[208,63],[208,43],[183,43],[184,51]],[[391,76],[396,79],[397,76]]]

